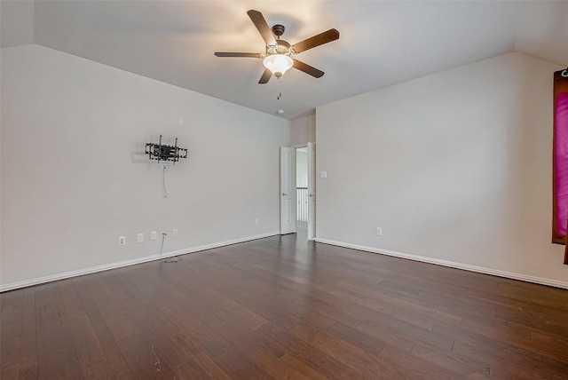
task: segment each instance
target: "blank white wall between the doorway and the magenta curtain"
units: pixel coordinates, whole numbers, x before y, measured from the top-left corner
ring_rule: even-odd
[[[510,53],[318,107],[318,241],[568,287],[550,243],[559,68]]]

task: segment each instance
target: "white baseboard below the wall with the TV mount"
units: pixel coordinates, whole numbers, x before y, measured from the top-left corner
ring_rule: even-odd
[[[252,241],[252,240],[256,240],[256,239],[263,239],[265,237],[270,237],[270,236],[274,236],[274,235],[278,235],[278,234],[280,234],[280,232],[276,231],[276,232],[272,232],[272,233],[268,233],[268,234],[259,234],[259,235],[254,235],[254,236],[248,236],[248,237],[244,237],[244,238],[240,238],[240,239],[234,239],[234,240],[230,240],[230,241],[218,241],[218,242],[214,242],[214,243],[211,243],[211,244],[201,245],[199,247],[192,247],[192,248],[187,248],[187,249],[177,249],[177,250],[173,250],[173,251],[170,251],[170,252],[164,252],[162,254],[162,256],[160,256],[159,254],[156,254],[156,255],[152,255],[152,256],[139,257],[139,258],[135,258],[135,259],[132,259],[132,260],[120,261],[118,263],[92,266],[91,268],[79,269],[77,271],[53,274],[51,276],[40,277],[40,278],[27,280],[27,281],[12,282],[12,283],[9,283],[9,284],[0,285],[0,293],[2,293],[4,291],[8,291],[8,290],[13,290],[13,289],[26,288],[28,286],[38,285],[38,284],[42,284],[42,283],[45,283],[45,282],[58,281],[58,280],[68,279],[68,278],[71,278],[71,277],[82,276],[83,274],[103,272],[103,271],[107,271],[109,269],[122,268],[123,266],[147,263],[148,261],[159,260],[161,258],[185,255],[185,254],[188,254],[188,253],[199,252],[200,250],[214,249],[214,248],[218,248],[218,247],[225,247],[226,245],[237,244],[237,243],[240,243],[240,242]]]

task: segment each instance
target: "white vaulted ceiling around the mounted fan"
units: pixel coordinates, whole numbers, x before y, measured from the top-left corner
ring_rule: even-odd
[[[339,40],[296,55],[325,71],[296,69],[258,84],[264,52],[247,11],[282,24],[295,44],[336,28]],[[510,51],[568,64],[568,2],[517,1],[36,1],[2,0],[2,46],[41,44],[280,115]]]

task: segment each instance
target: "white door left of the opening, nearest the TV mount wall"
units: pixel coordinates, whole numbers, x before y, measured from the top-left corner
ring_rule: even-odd
[[[280,234],[296,232],[296,149],[280,146]]]

